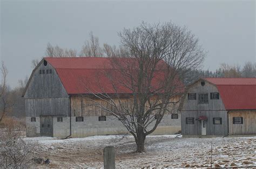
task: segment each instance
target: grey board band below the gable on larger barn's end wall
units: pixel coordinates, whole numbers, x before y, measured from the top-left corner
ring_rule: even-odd
[[[26,117],[69,116],[69,98],[25,99]]]

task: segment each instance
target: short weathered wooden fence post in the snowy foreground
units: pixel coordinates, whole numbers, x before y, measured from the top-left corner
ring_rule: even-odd
[[[114,147],[108,146],[105,147],[103,150],[104,154],[104,168],[105,169],[114,169],[115,164],[114,164]]]

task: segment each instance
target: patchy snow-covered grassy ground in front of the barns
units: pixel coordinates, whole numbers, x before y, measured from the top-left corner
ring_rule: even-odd
[[[37,141],[36,156],[49,158],[48,167],[103,167],[103,148],[114,146],[117,168],[141,167],[209,167],[211,143],[213,167],[256,165],[256,137],[239,138],[174,138],[148,136],[144,153],[133,153],[136,144],[131,136],[93,136],[56,139],[49,137],[24,138]],[[35,167],[45,167],[37,165]]]

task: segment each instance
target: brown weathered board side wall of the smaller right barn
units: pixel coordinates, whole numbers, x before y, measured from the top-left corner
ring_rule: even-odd
[[[242,124],[233,124],[233,117],[242,117]],[[234,110],[228,112],[228,129],[230,135],[256,134],[256,110]]]

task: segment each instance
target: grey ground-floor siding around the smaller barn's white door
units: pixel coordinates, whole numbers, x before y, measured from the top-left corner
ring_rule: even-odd
[[[181,112],[181,133],[184,135],[201,135],[199,116],[206,116],[206,134],[225,136],[228,133],[227,111],[186,111]],[[193,117],[194,124],[186,124],[186,117]],[[222,124],[213,124],[213,118],[221,118]]]

